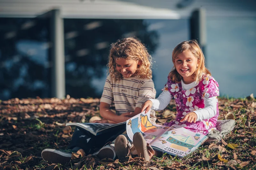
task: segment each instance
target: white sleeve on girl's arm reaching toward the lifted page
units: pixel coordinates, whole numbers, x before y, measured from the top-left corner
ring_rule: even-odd
[[[169,91],[163,91],[157,99],[148,99],[152,101],[151,109],[160,111],[164,110],[164,108],[170,103],[173,98],[172,94]]]

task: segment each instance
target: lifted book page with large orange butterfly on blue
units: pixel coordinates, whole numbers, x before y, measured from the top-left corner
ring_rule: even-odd
[[[166,128],[163,125],[157,125],[150,122],[150,110],[147,114],[141,112],[126,121],[127,136],[132,141],[133,134],[140,132],[147,143],[151,144],[158,136],[165,133]]]

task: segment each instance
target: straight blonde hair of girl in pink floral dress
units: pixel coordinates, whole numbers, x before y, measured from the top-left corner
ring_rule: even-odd
[[[205,67],[205,58],[204,54],[197,43],[196,40],[183,41],[178,44],[172,51],[172,63],[174,64],[172,71],[169,73],[169,78],[179,83],[182,79],[182,76],[178,73],[175,67],[175,59],[183,51],[189,50],[198,60],[198,66],[194,72],[194,79],[196,82],[200,81],[204,74],[211,76],[211,72]]]

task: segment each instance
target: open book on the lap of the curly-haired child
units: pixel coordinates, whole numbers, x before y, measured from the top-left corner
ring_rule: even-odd
[[[97,136],[115,129],[125,129],[125,122],[121,123],[66,123],[66,126],[77,126]]]

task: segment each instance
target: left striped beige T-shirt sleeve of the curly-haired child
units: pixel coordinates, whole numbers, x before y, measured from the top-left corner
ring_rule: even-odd
[[[113,92],[111,87],[111,81],[110,76],[107,77],[105,85],[103,87],[103,92],[101,95],[100,102],[112,104],[114,98],[113,98]]]

